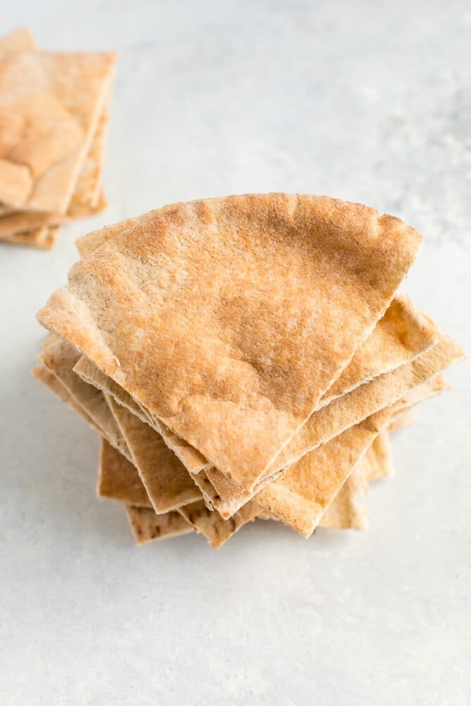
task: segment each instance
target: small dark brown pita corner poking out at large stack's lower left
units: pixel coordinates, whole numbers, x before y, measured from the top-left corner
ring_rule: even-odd
[[[149,496],[135,466],[102,438],[97,496],[148,508]]]

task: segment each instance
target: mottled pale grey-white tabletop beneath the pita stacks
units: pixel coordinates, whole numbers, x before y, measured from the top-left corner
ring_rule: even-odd
[[[88,229],[200,196],[363,201],[425,236],[407,291],[471,350],[471,8],[7,1],[49,49],[119,49],[110,207],[0,249],[0,702],[470,703],[470,364],[395,438],[369,532],[244,528],[135,549],[97,439],[30,378],[35,311]]]

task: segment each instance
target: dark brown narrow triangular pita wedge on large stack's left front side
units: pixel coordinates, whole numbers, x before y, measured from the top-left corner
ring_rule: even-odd
[[[201,492],[162,436],[112,397],[106,399],[157,515],[199,500]]]

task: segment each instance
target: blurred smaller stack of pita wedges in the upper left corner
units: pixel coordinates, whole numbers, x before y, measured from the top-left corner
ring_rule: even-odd
[[[114,54],[0,39],[0,240],[52,248],[59,225],[106,206],[102,161]]]

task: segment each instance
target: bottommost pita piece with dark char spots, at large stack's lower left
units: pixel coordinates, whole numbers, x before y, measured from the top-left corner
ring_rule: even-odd
[[[126,505],[126,516],[136,544],[146,544],[155,539],[172,539],[194,531],[184,517],[176,512],[156,515],[149,508]]]

